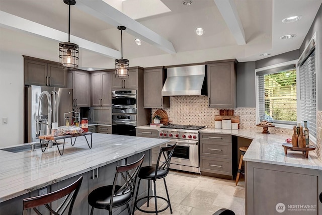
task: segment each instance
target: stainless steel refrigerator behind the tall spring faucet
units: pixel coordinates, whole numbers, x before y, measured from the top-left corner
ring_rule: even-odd
[[[48,94],[45,92],[47,91]],[[47,99],[47,95],[49,100]],[[39,99],[41,96],[41,100]],[[48,116],[48,101],[51,103],[52,113]],[[39,116],[38,116],[39,108]],[[72,111],[72,89],[26,86],[25,87],[25,142],[39,141],[39,135],[50,134],[48,121],[58,122],[58,126],[65,124],[64,113]],[[70,118],[72,114],[69,115]],[[37,118],[39,123],[37,126]],[[38,129],[37,129],[38,128]]]

